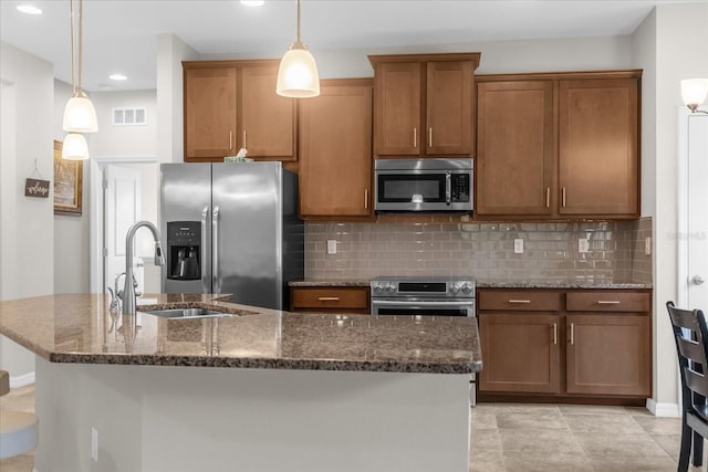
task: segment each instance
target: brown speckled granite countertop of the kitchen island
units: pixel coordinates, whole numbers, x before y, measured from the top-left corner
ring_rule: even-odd
[[[236,317],[124,317],[105,295],[0,302],[0,334],[52,363],[466,374],[481,369],[475,318],[295,314],[145,295],[138,310],[202,307]]]

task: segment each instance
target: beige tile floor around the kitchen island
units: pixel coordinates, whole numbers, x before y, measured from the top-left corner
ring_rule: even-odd
[[[34,411],[34,386],[0,397],[0,409]],[[644,408],[481,403],[471,438],[470,472],[675,472],[680,420]],[[30,472],[33,462],[33,453],[6,459],[0,471]]]

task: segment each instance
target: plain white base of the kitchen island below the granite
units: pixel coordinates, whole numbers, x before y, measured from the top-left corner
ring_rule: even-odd
[[[37,415],[38,472],[469,466],[468,375],[54,364],[38,356]]]

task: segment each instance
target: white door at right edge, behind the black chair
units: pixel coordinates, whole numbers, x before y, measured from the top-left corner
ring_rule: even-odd
[[[679,268],[679,294],[685,294],[685,300],[679,306],[708,314],[708,115],[683,115],[685,151],[679,153],[679,159],[685,160],[686,185],[681,186],[685,219],[680,239],[685,269]]]

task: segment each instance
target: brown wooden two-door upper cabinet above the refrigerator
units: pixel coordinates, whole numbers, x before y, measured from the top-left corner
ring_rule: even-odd
[[[279,61],[183,62],[185,161],[296,160],[293,98],[275,93]]]

